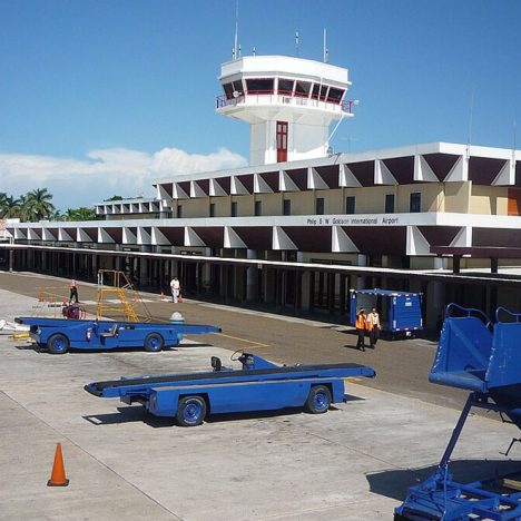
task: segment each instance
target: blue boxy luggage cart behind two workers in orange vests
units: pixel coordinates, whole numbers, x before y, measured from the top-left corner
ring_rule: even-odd
[[[350,293],[351,325],[355,325],[360,309],[364,308],[368,313],[375,307],[382,331],[392,336],[412,336],[414,332],[423,330],[421,293],[392,289],[350,289]]]

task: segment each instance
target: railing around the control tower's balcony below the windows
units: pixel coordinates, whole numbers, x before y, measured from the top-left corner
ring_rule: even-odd
[[[341,107],[342,112],[353,114],[354,100],[344,101],[327,101],[314,99],[301,94],[286,94],[285,91],[278,91],[274,94],[272,90],[256,90],[248,94],[240,94],[235,98],[228,98],[226,95],[216,97],[216,108],[235,107],[246,102],[275,102],[275,104],[287,104],[295,106],[306,106],[337,110],[336,107]]]

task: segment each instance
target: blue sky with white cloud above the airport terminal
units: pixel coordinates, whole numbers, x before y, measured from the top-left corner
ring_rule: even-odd
[[[0,191],[62,212],[151,180],[245,166],[245,122],[215,112],[235,0],[0,0]],[[243,56],[350,70],[335,151],[448,141],[512,148],[519,0],[239,0]],[[517,148],[521,148],[518,131]]]

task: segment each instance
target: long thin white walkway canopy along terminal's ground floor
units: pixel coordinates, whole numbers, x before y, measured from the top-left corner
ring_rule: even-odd
[[[109,257],[137,257],[148,259],[177,259],[187,263],[210,263],[228,266],[256,267],[257,269],[288,269],[297,272],[323,272],[336,273],[341,275],[362,275],[362,276],[387,276],[393,278],[419,279],[423,282],[444,282],[455,284],[479,284],[491,286],[519,286],[521,287],[521,278],[503,274],[453,274],[440,271],[412,271],[412,269],[393,269],[382,267],[365,267],[351,266],[338,264],[321,264],[321,263],[291,263],[282,260],[260,260],[249,258],[227,258],[212,257],[204,255],[179,255],[179,254],[157,254],[147,252],[125,252],[125,250],[108,250],[95,248],[68,248],[68,247],[50,247],[50,246],[33,246],[21,244],[0,244],[0,249],[33,249],[48,250],[67,254],[82,255],[102,255]]]

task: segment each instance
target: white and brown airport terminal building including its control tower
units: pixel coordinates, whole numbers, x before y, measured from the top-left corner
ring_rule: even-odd
[[[499,269],[521,257],[521,150],[334,154],[356,105],[346,69],[253,56],[219,80],[216,111],[249,125],[247,167],[157,179],[153,199],[96,205],[99,220],[10,223],[0,255],[91,281],[124,269],[158,292],[178,275],[188,295],[338,321],[350,288],[422,292],[432,327],[448,302],[521,307],[521,279]]]

